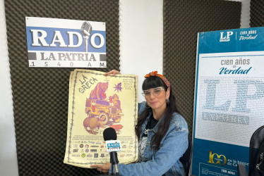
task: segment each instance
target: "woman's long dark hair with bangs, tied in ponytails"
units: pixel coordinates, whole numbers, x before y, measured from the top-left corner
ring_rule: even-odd
[[[164,87],[166,92],[168,90],[168,87],[165,84],[165,82],[160,77],[157,76],[147,77],[142,84],[143,90],[152,89],[155,87]],[[151,149],[158,150],[160,148],[160,142],[162,141],[162,138],[169,130],[169,123],[172,120],[172,114],[174,112],[179,113],[178,109],[176,108],[176,99],[172,93],[172,86],[171,86],[170,94],[169,94],[169,103],[167,104],[164,117],[160,119],[161,121],[157,133],[151,139]],[[145,110],[143,111],[143,113],[139,115],[138,124],[135,127],[136,135],[138,139],[140,138],[140,132],[143,122],[145,122],[146,118],[148,117],[148,115],[150,115],[150,113],[152,113],[152,109],[150,108],[150,106],[146,104]]]

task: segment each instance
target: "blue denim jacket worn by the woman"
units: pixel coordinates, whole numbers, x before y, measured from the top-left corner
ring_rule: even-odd
[[[144,104],[139,103],[138,115],[144,109]],[[150,118],[150,115],[148,118]],[[148,118],[143,123],[140,139],[148,123]],[[148,141],[145,146],[143,162],[128,165],[119,164],[119,175],[184,175],[184,167],[179,161],[179,158],[181,158],[188,148],[188,125],[179,113],[173,113],[169,130],[160,143],[160,149],[153,151],[150,149],[150,140],[157,132],[159,123],[160,121],[157,122],[153,130],[148,132]],[[111,167],[109,173],[111,173]]]

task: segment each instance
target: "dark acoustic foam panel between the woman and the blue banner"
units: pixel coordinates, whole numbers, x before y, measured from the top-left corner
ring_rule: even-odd
[[[177,106],[193,129],[193,99],[198,32],[240,27],[241,2],[164,0],[163,73],[172,84]]]

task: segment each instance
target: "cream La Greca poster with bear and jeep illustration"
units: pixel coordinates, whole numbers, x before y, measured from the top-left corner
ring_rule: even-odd
[[[64,163],[83,168],[109,163],[104,129],[116,130],[119,163],[138,161],[138,76],[107,75],[93,70],[71,72]]]

